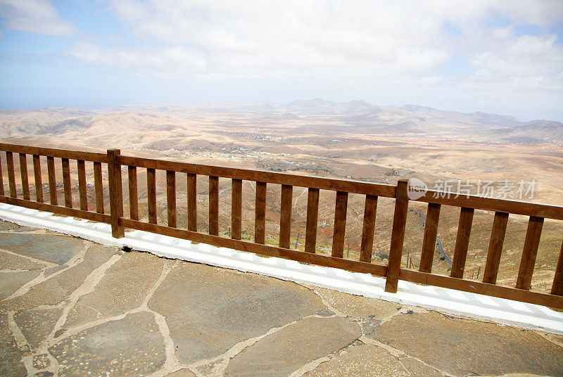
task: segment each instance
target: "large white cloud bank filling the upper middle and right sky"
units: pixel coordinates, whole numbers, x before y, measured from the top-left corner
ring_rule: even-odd
[[[563,1],[108,1],[142,47],[80,42],[69,52],[124,74],[502,96],[515,108],[563,101],[563,32],[550,32]],[[538,35],[519,35],[519,25]]]

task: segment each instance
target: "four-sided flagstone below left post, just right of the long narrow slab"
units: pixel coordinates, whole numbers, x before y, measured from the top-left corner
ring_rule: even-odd
[[[174,263],[149,253],[125,253],[106,270],[96,289],[82,296],[78,304],[106,317],[139,307],[160,278],[165,262]]]

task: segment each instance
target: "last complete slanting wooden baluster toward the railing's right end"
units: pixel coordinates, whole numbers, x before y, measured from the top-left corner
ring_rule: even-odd
[[[524,240],[524,249],[522,250],[520,269],[516,280],[516,288],[526,290],[531,288],[533,267],[536,264],[542,227],[543,217],[530,216],[526,239]]]

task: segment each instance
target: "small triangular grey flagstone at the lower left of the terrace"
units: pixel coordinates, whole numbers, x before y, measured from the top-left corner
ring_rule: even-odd
[[[30,310],[15,313],[13,319],[27,339],[32,350],[45,340],[63,313],[61,308]]]

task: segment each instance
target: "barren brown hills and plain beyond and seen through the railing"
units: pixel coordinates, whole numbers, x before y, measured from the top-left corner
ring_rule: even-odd
[[[545,120],[521,122],[501,115],[455,113],[420,106],[379,107],[362,101],[331,103],[316,99],[284,106],[221,104],[91,111],[65,108],[2,110],[0,137],[8,143],[93,151],[120,148],[122,154],[141,157],[348,177],[384,184],[394,184],[402,177],[417,177],[435,188],[435,182],[451,180],[457,184],[457,180],[466,182],[469,179],[469,184],[473,184],[472,193],[476,193],[479,180],[493,181],[495,193],[505,180],[515,185],[521,180],[535,180],[533,196],[528,193],[522,200],[563,205],[563,124]],[[1,158],[7,188],[6,160],[4,155]],[[60,166],[60,162],[57,164]],[[31,158],[28,165],[31,171]],[[87,165],[87,173],[89,181],[93,182],[91,165]],[[165,175],[159,173],[159,222],[164,224]],[[123,175],[124,184],[127,184],[127,174]],[[139,169],[138,175],[141,217],[146,217],[146,174]],[[60,172],[57,179],[61,183],[62,202]],[[73,184],[77,184],[76,177],[72,179]],[[43,182],[46,181],[44,176]],[[185,226],[186,180],[181,174],[178,174],[177,185],[178,223]],[[253,238],[254,189],[253,182],[244,182],[243,237],[248,239]],[[280,191],[278,185],[268,185],[267,243],[277,243]],[[516,189],[511,193],[519,199]],[[127,201],[127,190],[124,194]],[[93,200],[93,188],[89,195]],[[335,196],[334,192],[321,191],[319,253],[330,253]],[[201,231],[207,229],[207,198],[207,179],[198,177],[198,229]],[[230,200],[230,181],[220,179],[220,233],[225,236],[230,231]],[[298,249],[304,246],[306,202],[306,190],[294,188],[291,240],[292,246],[296,245]],[[350,258],[358,257],[363,205],[363,196],[350,194],[345,249],[345,256]],[[411,202],[410,207],[426,213],[426,205],[422,203]],[[459,208],[447,206],[441,211],[438,237],[450,257],[453,256],[459,212]],[[493,215],[485,211],[475,213],[466,276],[476,278],[482,274]],[[374,262],[386,263],[392,216],[393,201],[380,198]],[[417,267],[424,222],[415,211],[409,212],[407,221],[403,262],[410,264],[412,257],[412,264]],[[500,283],[514,285],[526,226],[525,217],[510,216]],[[534,289],[548,290],[550,287],[562,238],[562,223],[546,219],[532,282]],[[433,268],[447,274],[449,265],[436,253]]]

